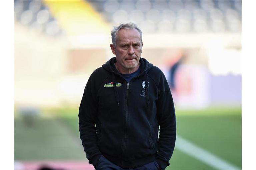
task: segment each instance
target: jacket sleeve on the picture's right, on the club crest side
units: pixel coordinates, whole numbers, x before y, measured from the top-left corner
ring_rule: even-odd
[[[160,90],[157,101],[157,117],[160,125],[158,152],[156,161],[163,170],[170,165],[176,140],[176,117],[172,94],[164,74],[160,78]]]

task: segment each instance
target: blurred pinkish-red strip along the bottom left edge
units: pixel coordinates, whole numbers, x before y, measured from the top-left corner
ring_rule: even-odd
[[[54,170],[73,170],[73,169],[94,169],[94,167],[85,161],[14,161],[15,170],[39,170],[39,169],[54,169]]]

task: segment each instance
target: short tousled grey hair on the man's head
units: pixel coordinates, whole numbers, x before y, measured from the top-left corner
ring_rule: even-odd
[[[121,29],[136,29],[140,33],[140,40],[142,42],[142,31],[138,28],[138,26],[134,23],[126,23],[126,24],[120,24],[117,27],[113,27],[113,30],[111,31],[111,38],[112,38],[112,43],[114,47],[116,47],[116,40],[117,40],[117,33]]]

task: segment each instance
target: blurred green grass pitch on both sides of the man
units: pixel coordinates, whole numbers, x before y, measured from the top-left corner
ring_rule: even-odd
[[[51,115],[45,117],[44,112]],[[14,120],[15,160],[86,160],[79,138],[78,108],[44,109],[32,127]],[[177,134],[241,168],[241,108],[176,110]],[[167,169],[214,169],[175,149]]]

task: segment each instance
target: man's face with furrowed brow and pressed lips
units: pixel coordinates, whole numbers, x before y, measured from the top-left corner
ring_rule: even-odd
[[[118,68],[128,73],[138,68],[142,46],[140,33],[136,29],[119,30],[116,47],[110,44],[112,52],[116,55]]]

